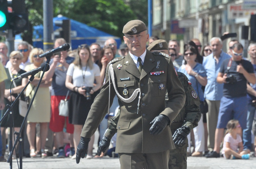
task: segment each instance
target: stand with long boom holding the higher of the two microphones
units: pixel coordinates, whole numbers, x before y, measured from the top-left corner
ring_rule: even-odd
[[[50,59],[51,59],[50,57],[47,58],[47,61],[46,61],[47,66],[49,66]],[[35,96],[36,96],[36,93],[37,93],[38,88],[39,88],[39,86],[40,86],[40,83],[41,83],[41,81],[42,81],[42,78],[43,78],[43,76],[44,76],[44,74],[45,74],[45,71],[46,71],[47,66],[44,67],[42,76],[40,77],[40,80],[39,80],[39,82],[38,82],[37,88],[36,88],[35,93],[34,93],[34,95],[33,95],[33,97],[32,97],[32,100],[31,100],[31,102],[29,103],[28,111],[27,111],[26,116],[24,117],[24,120],[23,120],[23,122],[22,122],[22,125],[21,125],[21,127],[20,127],[20,130],[19,130],[19,132],[15,132],[15,134],[17,135],[17,137],[16,137],[16,140],[15,140],[14,145],[13,145],[13,147],[12,147],[12,150],[10,151],[9,157],[8,157],[8,159],[7,159],[7,162],[12,162],[12,154],[13,154],[14,148],[15,148],[15,146],[17,145],[18,141],[21,143],[21,144],[19,145],[20,148],[21,148],[23,138],[21,137],[20,133],[21,133],[21,131],[22,131],[24,125],[25,125],[25,120],[27,119],[29,110],[30,110],[30,108],[31,108],[31,106],[32,106],[32,104],[33,104],[33,101],[34,101],[34,99],[35,99]],[[32,76],[31,76],[31,77],[32,77]],[[34,79],[34,78],[33,78],[33,79]],[[26,87],[27,87],[27,86],[26,86]],[[11,140],[11,139],[10,139],[10,140]],[[20,153],[20,155],[19,155],[19,158],[20,158],[20,169],[22,169],[22,156],[23,156],[23,151],[21,151],[21,150],[19,149],[19,153]],[[10,168],[10,169],[12,169],[12,168]]]

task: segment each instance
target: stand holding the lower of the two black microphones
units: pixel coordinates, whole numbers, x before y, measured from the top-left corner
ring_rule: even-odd
[[[27,83],[27,85],[23,88],[23,90],[19,93],[19,95],[17,96],[17,98],[15,98],[14,102],[12,103],[12,105],[7,104],[6,106],[8,107],[8,109],[6,110],[5,114],[3,115],[2,119],[0,120],[0,123],[4,120],[4,118],[7,117],[7,115],[10,115],[10,141],[9,141],[9,151],[11,151],[13,149],[13,141],[12,141],[12,127],[13,127],[13,114],[12,114],[12,108],[15,105],[15,103],[19,100],[19,97],[22,95],[22,93],[25,91],[25,89],[27,88],[27,86],[29,85],[30,82],[32,82],[34,80],[34,76],[31,76],[29,78],[29,81]],[[14,146],[15,147],[15,146]],[[21,146],[20,146],[21,147]],[[13,154],[13,153],[12,153]],[[12,157],[12,154],[10,153],[9,157]],[[21,156],[20,156],[21,157]],[[8,158],[9,159],[9,158]],[[10,169],[12,169],[12,158],[9,159],[10,162]]]

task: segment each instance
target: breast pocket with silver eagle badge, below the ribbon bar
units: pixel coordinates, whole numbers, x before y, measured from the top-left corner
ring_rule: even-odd
[[[166,94],[166,77],[165,76],[152,76],[150,77],[151,92],[153,96],[165,96]]]

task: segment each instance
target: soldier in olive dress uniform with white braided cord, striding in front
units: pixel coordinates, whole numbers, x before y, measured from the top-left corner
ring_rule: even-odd
[[[142,21],[129,21],[123,33],[130,51],[108,64],[104,84],[83,126],[76,161],[84,158],[90,137],[117,95],[116,152],[121,168],[167,169],[169,150],[175,148],[169,125],[186,95],[169,56],[146,50],[149,35]]]

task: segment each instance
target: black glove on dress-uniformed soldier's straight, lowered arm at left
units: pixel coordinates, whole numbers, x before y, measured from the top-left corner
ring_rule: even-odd
[[[88,149],[88,144],[90,142],[91,138],[85,138],[81,137],[80,142],[77,146],[77,153],[76,153],[76,161],[77,164],[80,162],[80,158],[84,158],[87,149]]]

